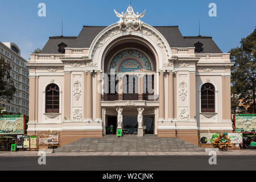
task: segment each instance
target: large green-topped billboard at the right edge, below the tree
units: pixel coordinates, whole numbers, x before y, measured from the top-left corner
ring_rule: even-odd
[[[235,133],[255,133],[256,114],[236,114]]]

